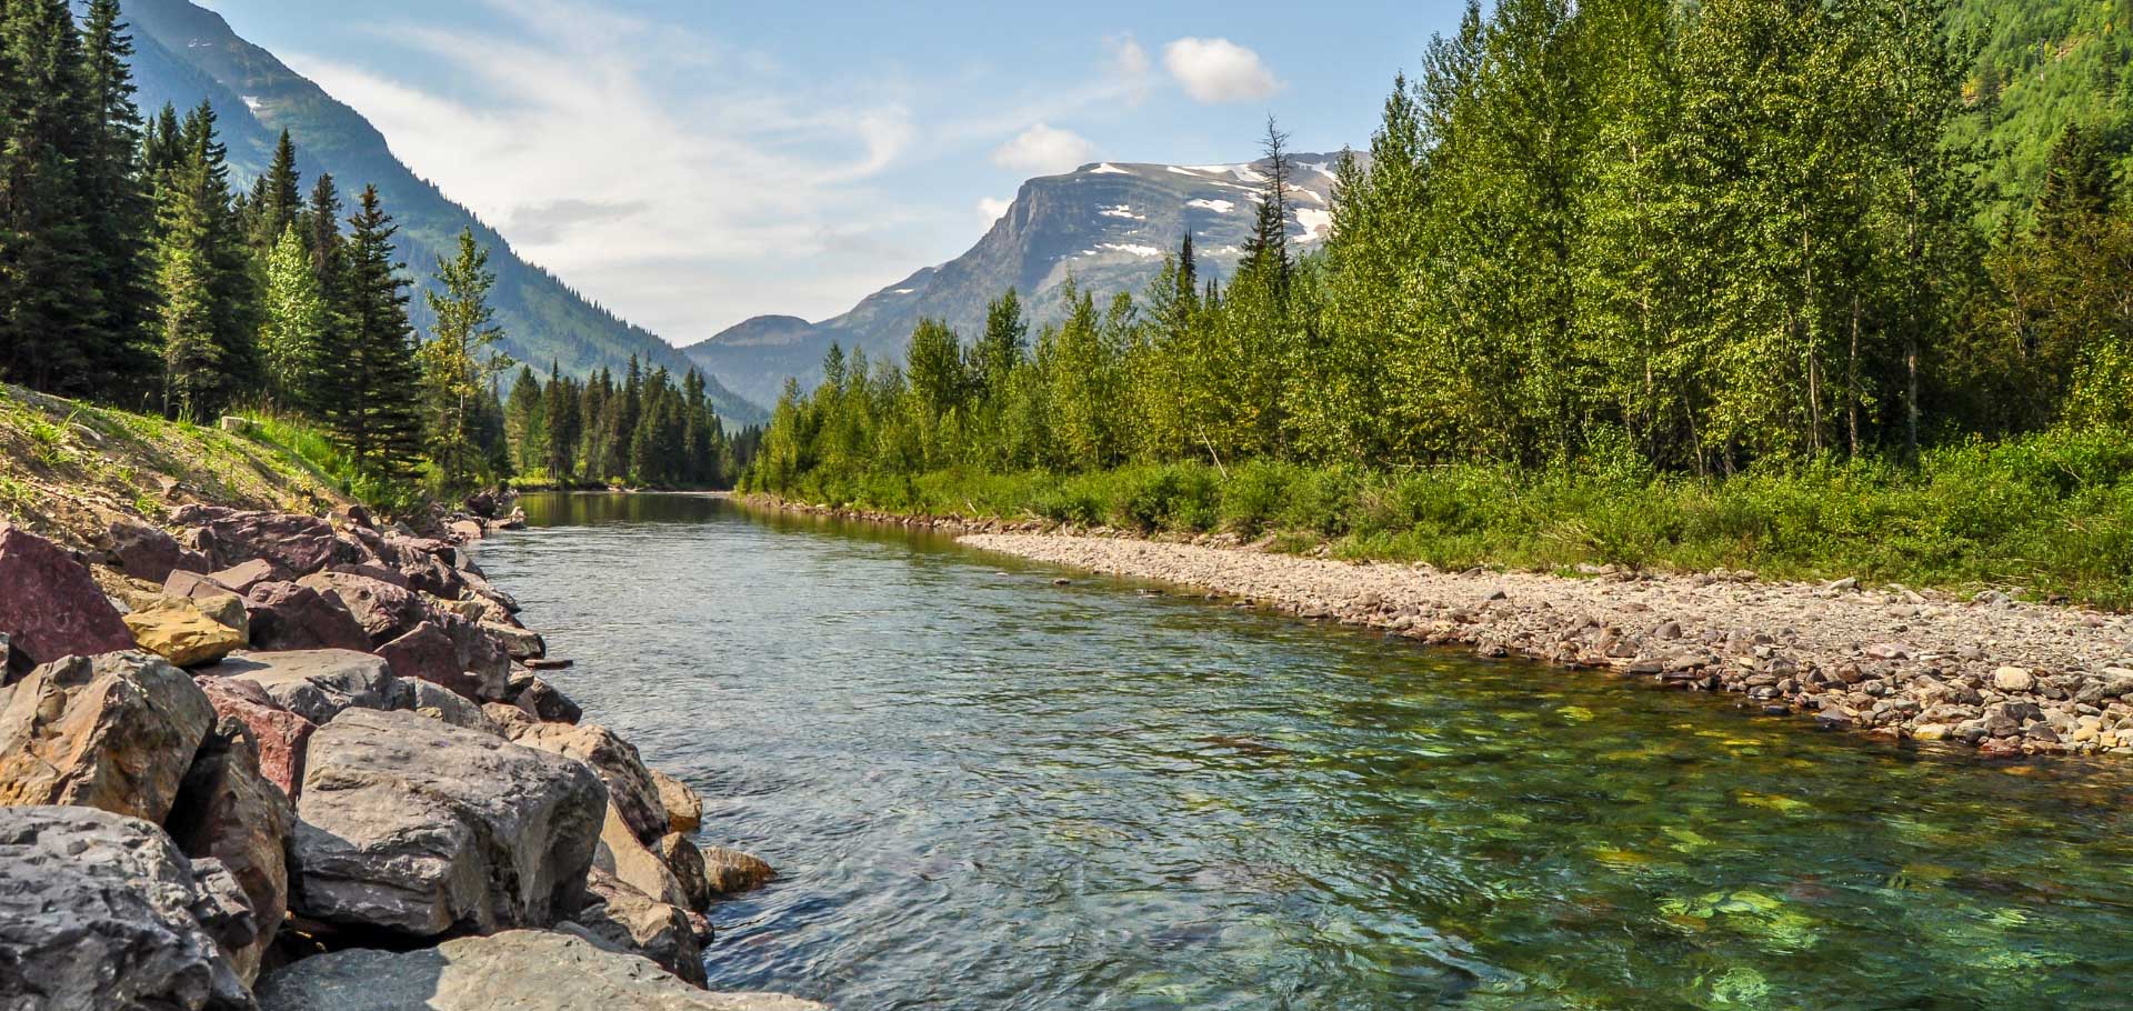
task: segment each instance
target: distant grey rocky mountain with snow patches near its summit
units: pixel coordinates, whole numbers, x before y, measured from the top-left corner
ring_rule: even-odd
[[[1295,156],[1288,235],[1316,247],[1333,226],[1340,156]],[[1269,164],[1086,164],[1022,183],[1015,203],[971,252],[868,294],[851,311],[808,324],[791,316],[747,320],[691,346],[689,358],[755,403],[774,403],[787,375],[811,388],[830,343],[900,360],[911,328],[945,320],[964,339],[985,324],[985,303],[1022,292],[1032,322],[1062,316],[1073,277],[1098,299],[1139,294],[1177,252],[1186,230],[1203,275],[1229,277],[1258,215]]]

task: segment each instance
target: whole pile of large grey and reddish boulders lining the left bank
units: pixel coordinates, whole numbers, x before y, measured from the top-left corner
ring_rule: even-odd
[[[702,990],[770,868],[535,674],[493,525],[173,523],[0,523],[0,1007],[821,1011]]]

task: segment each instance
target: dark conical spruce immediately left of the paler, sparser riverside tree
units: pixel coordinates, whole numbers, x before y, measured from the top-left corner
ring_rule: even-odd
[[[322,414],[356,469],[405,480],[422,459],[422,420],[420,369],[407,324],[410,284],[392,252],[399,228],[375,186],[363,190],[348,224],[343,326],[326,350]]]

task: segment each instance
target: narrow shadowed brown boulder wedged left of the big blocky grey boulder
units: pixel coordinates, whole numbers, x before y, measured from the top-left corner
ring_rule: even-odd
[[[260,774],[252,729],[237,717],[222,717],[192,759],[164,830],[188,857],[220,860],[243,889],[258,932],[228,956],[245,983],[258,979],[267,945],[288,913],[292,823],[288,793]]]

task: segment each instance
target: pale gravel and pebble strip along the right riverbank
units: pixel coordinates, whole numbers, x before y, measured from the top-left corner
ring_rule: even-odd
[[[1999,593],[1952,599],[1856,580],[1758,582],[1753,574],[1450,574],[1000,525],[962,542],[1485,657],[1730,691],[1832,729],[1971,744],[1986,755],[2133,755],[2133,619]]]

